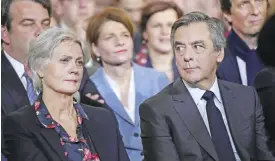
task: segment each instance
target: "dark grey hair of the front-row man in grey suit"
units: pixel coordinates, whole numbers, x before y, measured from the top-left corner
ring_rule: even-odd
[[[224,32],[225,32],[224,23],[218,20],[217,18],[207,16],[202,12],[191,12],[182,16],[172,26],[171,43],[172,43],[173,51],[174,51],[174,36],[175,36],[176,30],[181,26],[188,26],[191,23],[198,23],[198,22],[204,22],[207,24],[215,50],[219,50],[226,47],[226,38],[224,36]]]

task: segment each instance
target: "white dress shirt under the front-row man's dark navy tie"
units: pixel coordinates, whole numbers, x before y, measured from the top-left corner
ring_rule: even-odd
[[[193,86],[191,86],[190,84],[188,84],[185,81],[183,81],[183,82],[184,82],[187,90],[191,94],[194,102],[196,103],[196,105],[198,107],[198,110],[199,110],[199,112],[201,114],[201,117],[202,117],[202,119],[203,119],[203,121],[205,123],[205,126],[206,126],[206,128],[207,128],[207,130],[208,130],[208,132],[209,132],[209,134],[211,136],[211,132],[210,132],[210,128],[209,128],[209,122],[208,122],[208,117],[207,117],[207,112],[206,112],[206,103],[207,103],[207,101],[202,98],[203,94],[206,91],[202,90],[202,89],[199,89],[199,88],[196,88],[196,87],[193,87]],[[227,130],[230,142],[231,142],[231,146],[232,146],[235,158],[236,158],[237,161],[240,161],[240,157],[239,157],[239,155],[237,153],[237,150],[235,148],[234,142],[232,140],[231,133],[229,131],[228,122],[227,122],[227,118],[226,118],[226,115],[225,115],[224,106],[223,106],[223,102],[222,102],[222,98],[221,98],[221,94],[220,94],[220,89],[219,89],[217,78],[216,78],[214,84],[212,85],[212,87],[210,88],[210,91],[212,91],[215,94],[214,103],[215,103],[216,107],[220,110],[220,112],[222,114],[222,118],[223,118],[226,130]]]

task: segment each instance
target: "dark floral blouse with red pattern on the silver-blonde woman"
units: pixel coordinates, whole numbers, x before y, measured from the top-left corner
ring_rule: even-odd
[[[64,155],[67,156],[69,161],[99,161],[98,154],[94,149],[94,151],[90,150],[87,140],[83,136],[82,120],[88,120],[89,118],[80,104],[74,103],[74,108],[78,123],[76,128],[77,138],[69,136],[64,128],[53,120],[42,99],[38,99],[35,102],[35,111],[40,123],[45,128],[54,129],[59,134],[60,144],[65,150]]]

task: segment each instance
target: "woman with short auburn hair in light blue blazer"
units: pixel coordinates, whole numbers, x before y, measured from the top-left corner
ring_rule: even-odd
[[[134,25],[118,8],[105,8],[88,24],[87,40],[92,57],[101,67],[90,79],[106,104],[114,111],[131,161],[143,158],[139,105],[164,88],[164,73],[132,62]]]

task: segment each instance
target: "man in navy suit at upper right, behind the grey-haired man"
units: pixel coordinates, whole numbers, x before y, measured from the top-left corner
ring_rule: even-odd
[[[232,30],[217,76],[253,86],[256,74],[263,68],[256,48],[259,32],[267,18],[268,0],[221,0],[221,7]]]

